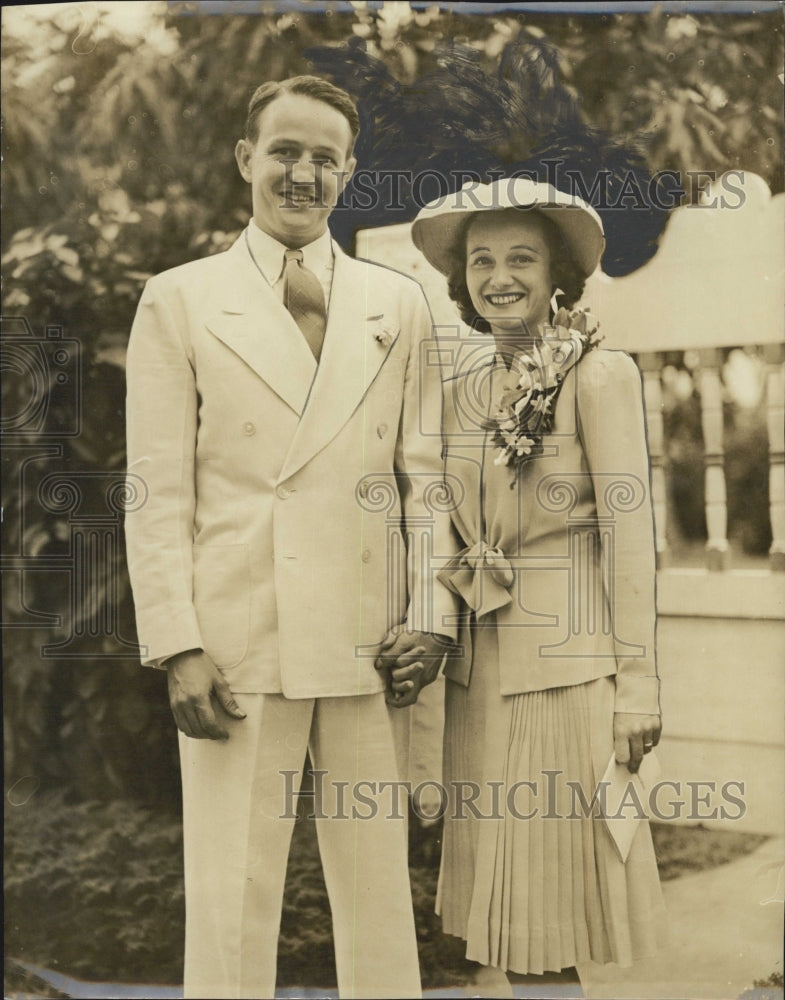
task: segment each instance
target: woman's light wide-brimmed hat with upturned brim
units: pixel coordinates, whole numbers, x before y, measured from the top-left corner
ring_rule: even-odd
[[[455,264],[456,241],[469,215],[506,208],[536,209],[547,215],[584,278],[599,264],[605,236],[602,221],[591,205],[528,177],[508,177],[492,184],[470,181],[460,191],[429,202],[412,224],[412,239],[437,270],[449,275]]]

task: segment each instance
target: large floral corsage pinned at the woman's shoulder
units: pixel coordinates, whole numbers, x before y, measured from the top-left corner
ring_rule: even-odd
[[[602,338],[599,323],[585,309],[559,309],[553,324],[540,328],[541,338],[530,350],[516,354],[510,375],[516,383],[505,389],[491,418],[495,465],[517,474],[531,458],[543,453],[542,439],[553,429],[556,400],[564,376]]]

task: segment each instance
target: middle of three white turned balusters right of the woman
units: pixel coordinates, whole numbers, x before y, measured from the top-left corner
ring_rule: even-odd
[[[706,563],[710,570],[728,564],[728,504],[725,493],[725,450],[722,427],[722,351],[704,348],[700,355],[701,425],[706,493]]]

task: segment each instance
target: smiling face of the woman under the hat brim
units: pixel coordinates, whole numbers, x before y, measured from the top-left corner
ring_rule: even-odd
[[[545,225],[533,212],[509,209],[477,216],[466,237],[466,284],[478,316],[494,332],[547,323],[553,286]]]

